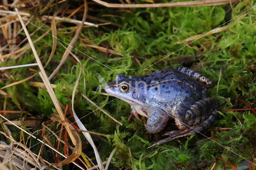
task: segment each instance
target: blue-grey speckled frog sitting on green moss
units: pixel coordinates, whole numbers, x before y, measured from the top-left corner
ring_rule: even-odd
[[[168,68],[151,74],[127,77],[120,73],[105,91],[131,106],[128,118],[138,115],[147,118],[148,133],[161,132],[169,120],[174,119],[178,130],[166,132],[168,136],[148,148],[174,139],[190,136],[209,129],[218,116],[219,102],[209,98],[207,89],[213,82],[186,67]]]

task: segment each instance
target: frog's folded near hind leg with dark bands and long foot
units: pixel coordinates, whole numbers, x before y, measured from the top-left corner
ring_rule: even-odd
[[[168,138],[149,146],[160,145],[170,140],[201,132],[212,126],[218,114],[219,102],[216,98],[204,98],[191,105],[194,98],[187,98],[175,111],[175,124],[180,130],[167,132]]]

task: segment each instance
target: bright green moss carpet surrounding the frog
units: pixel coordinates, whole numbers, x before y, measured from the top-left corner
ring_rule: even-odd
[[[161,2],[166,1],[162,0]],[[41,2],[40,6],[42,7],[44,3],[46,2]],[[50,4],[52,4],[52,1]],[[166,68],[186,66],[213,80],[214,86],[208,90],[208,95],[220,101],[220,110],[247,108],[244,103],[236,98],[244,100],[255,108],[256,13],[254,9],[250,9],[240,19],[232,19],[251,8],[250,4],[254,5],[255,2],[253,0],[241,1],[233,4],[232,7],[226,4],[177,8],[134,8],[130,9],[132,12],[115,13],[110,8],[102,7],[98,9],[98,12],[89,11],[89,15],[94,15],[98,18],[107,14],[104,19],[122,25],[122,28],[104,25],[98,28],[82,29],[80,38],[78,38],[74,47],[98,62],[73,50],[80,58],[85,72],[86,89],[84,90],[84,80],[81,79],[78,90],[124,124],[123,126],[116,126],[116,122],[96,110],[96,107],[82,98],[80,93],[76,94],[74,107],[78,117],[83,117],[82,122],[84,122],[86,128],[107,135],[107,138],[92,135],[102,159],[105,160],[110,152],[114,148],[116,149],[110,169],[117,170],[121,167],[132,166],[134,170],[192,170],[194,167],[194,169],[209,170],[218,156],[234,166],[237,166],[242,160],[240,156],[246,159],[255,157],[253,148],[256,146],[254,140],[256,115],[252,111],[220,111],[212,129],[232,129],[202,132],[205,136],[211,136],[212,140],[204,140],[206,139],[205,136],[195,134],[188,138],[180,138],[147,150],[146,147],[160,140],[162,138],[161,135],[146,133],[143,124],[144,118],[142,118],[142,122],[136,119],[131,119],[130,122],[127,122],[127,118],[130,115],[129,104],[100,94],[100,92],[104,92],[102,89],[96,93],[93,92],[102,84],[102,81],[99,81],[100,77],[104,78],[106,82],[110,82],[114,80],[115,75],[118,73],[124,73],[127,76],[140,76]],[[44,4],[44,6],[46,5]],[[48,4],[47,6],[50,5]],[[44,14],[43,8],[38,8],[36,13]],[[119,17],[114,17],[113,14]],[[79,19],[80,17],[78,13],[77,18]],[[96,22],[95,20],[88,21]],[[32,22],[36,26],[42,25],[36,20],[32,20]],[[200,38],[184,47],[187,45],[186,42],[182,42],[185,38],[204,34],[227,24],[230,25],[228,29]],[[42,27],[44,30],[49,28],[50,25],[48,24]],[[58,31],[58,38],[64,42],[70,42],[74,33],[64,33],[72,31],[74,28],[68,25],[63,28],[63,23],[58,23],[57,28],[62,31]],[[28,24],[28,29],[29,32],[33,32],[36,27]],[[36,40],[42,33],[39,30],[32,36],[32,39]],[[83,40],[86,40],[88,44],[111,48],[120,53],[121,56],[115,53],[106,54],[95,48],[86,47]],[[52,37],[50,35],[45,36],[35,46],[38,54],[42,57],[42,63],[45,64],[48,60],[47,56],[52,50]],[[46,67],[48,75],[53,72],[60,62],[64,50],[60,44],[57,44],[54,57]],[[169,54],[172,55],[168,56]],[[131,55],[140,57],[138,60],[141,66],[134,58],[131,58]],[[158,62],[159,60],[160,62]],[[8,59],[6,62],[2,62],[0,66],[14,65],[15,62],[12,59]],[[31,50],[28,50],[22,58],[17,60],[15,65],[31,62],[34,62],[34,56]],[[80,66],[76,66],[68,58],[59,70],[58,76],[51,80],[52,84],[57,85],[54,91],[63,105],[71,105],[72,89],[66,84],[74,86],[79,68]],[[144,70],[145,68],[147,69]],[[17,68],[5,73],[8,76],[8,80],[1,80],[0,88],[32,75],[32,72],[27,68]],[[41,78],[37,75],[31,81],[41,82]],[[63,90],[63,86],[65,86],[65,90]],[[46,120],[47,116],[55,112],[48,94],[40,88],[31,87],[28,82],[6,88],[5,91],[12,98],[0,96],[0,106],[2,107],[6,103],[8,110],[25,110],[34,116],[45,116]],[[15,118],[15,116],[12,118]],[[72,120],[70,114],[67,115],[67,118]],[[176,127],[170,122],[169,128],[163,130],[162,133],[175,130],[173,128]],[[16,132],[14,129],[11,130]],[[32,131],[34,130],[32,129]],[[14,137],[16,139],[20,138],[17,134],[14,134]],[[81,138],[86,141],[82,136]],[[57,142],[55,141],[54,144],[57,144]],[[157,148],[159,149],[156,150]],[[36,150],[36,148],[31,148],[32,151],[33,149],[34,151]],[[148,156],[154,150],[156,152]],[[92,149],[86,142],[83,142],[83,152],[90,158],[94,158]],[[52,153],[49,153],[49,150],[44,148],[42,155],[48,154]],[[51,156],[44,158],[50,162],[54,161]],[[222,169],[222,164],[222,161],[217,160],[217,166],[214,170]],[[230,168],[230,166],[226,165],[226,168]]]

